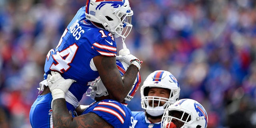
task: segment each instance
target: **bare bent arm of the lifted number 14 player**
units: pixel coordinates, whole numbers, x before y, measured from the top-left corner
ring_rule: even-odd
[[[104,86],[108,90],[110,99],[122,102],[131,90],[139,71],[138,68],[131,64],[124,76],[121,78],[120,71],[116,66],[116,58],[104,56],[94,57],[94,64],[98,69]]]

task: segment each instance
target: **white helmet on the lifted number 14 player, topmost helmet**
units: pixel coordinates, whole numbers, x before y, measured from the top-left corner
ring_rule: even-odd
[[[86,19],[102,24],[116,38],[123,40],[132,30],[133,11],[128,0],[87,0]],[[124,27],[127,27],[123,32]]]

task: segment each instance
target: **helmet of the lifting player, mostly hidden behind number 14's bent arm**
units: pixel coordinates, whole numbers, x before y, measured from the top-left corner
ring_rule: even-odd
[[[121,76],[124,75],[127,68],[129,67],[128,64],[126,64],[125,62],[122,62],[120,60],[116,60],[116,66],[118,67],[118,70],[119,70]],[[130,92],[127,94],[127,96],[126,96],[126,98],[124,98],[124,100],[127,100],[127,101],[132,100],[132,98],[134,97],[134,95],[136,94],[136,92],[140,86],[140,83],[141,83],[141,77],[140,77],[140,72],[138,72],[137,78],[135,79]],[[107,91],[106,87],[104,86],[104,84],[102,83],[100,77],[96,78],[92,82],[92,84],[90,85],[90,87],[88,88],[88,90],[86,92],[86,96],[90,96],[93,100],[96,97],[108,96],[108,91]]]

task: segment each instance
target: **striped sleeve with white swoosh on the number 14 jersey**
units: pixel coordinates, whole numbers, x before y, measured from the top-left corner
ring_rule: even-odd
[[[116,56],[116,42],[111,38],[101,38],[92,44],[92,48],[103,56]]]

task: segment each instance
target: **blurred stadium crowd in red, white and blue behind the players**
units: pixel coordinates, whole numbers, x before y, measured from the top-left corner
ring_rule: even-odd
[[[31,128],[47,52],[86,0],[0,0],[0,127]],[[145,80],[168,70],[181,98],[200,102],[208,128],[256,128],[256,1],[130,0],[126,38]],[[122,48],[121,40],[118,47]],[[81,103],[90,104],[84,96]],[[140,91],[128,103],[140,107]]]

